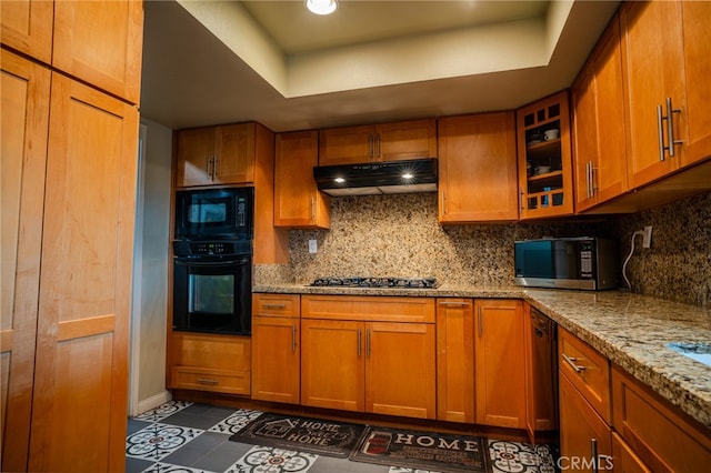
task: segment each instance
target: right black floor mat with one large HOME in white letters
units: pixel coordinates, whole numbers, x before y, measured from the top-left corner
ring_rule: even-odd
[[[471,473],[489,471],[487,453],[487,441],[477,436],[368,426],[349,459],[443,473]]]

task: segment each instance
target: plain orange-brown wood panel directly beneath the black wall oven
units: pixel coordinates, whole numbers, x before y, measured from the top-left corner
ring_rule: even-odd
[[[249,371],[250,339],[173,332],[171,364],[200,369]]]

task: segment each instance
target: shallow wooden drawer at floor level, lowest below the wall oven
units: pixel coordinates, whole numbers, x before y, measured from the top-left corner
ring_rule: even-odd
[[[249,371],[208,370],[174,366],[173,388],[218,393],[250,393]]]

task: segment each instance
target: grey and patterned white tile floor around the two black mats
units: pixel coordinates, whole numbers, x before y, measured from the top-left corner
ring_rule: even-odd
[[[126,471],[180,473],[428,473],[230,442],[261,412],[171,401],[129,419]],[[489,440],[492,473],[554,473],[547,445]],[[433,472],[430,472],[433,473]]]

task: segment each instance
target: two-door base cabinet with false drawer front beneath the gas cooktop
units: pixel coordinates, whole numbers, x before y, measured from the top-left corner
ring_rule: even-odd
[[[302,295],[303,405],[435,417],[434,300]]]

